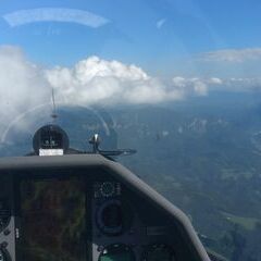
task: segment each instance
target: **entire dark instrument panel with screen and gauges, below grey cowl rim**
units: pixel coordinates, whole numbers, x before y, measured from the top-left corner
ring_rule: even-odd
[[[30,171],[2,182],[0,261],[189,260],[173,222],[109,173]]]

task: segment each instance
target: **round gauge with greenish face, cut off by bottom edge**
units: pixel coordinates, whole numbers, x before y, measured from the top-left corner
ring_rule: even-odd
[[[130,247],[114,244],[103,249],[99,261],[135,261],[135,256]]]

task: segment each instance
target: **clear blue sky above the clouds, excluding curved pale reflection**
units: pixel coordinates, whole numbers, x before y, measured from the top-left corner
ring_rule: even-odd
[[[96,28],[53,21],[11,26],[4,18],[21,10],[46,8],[87,11],[108,23]],[[226,66],[232,75],[246,67],[251,74],[260,69],[257,59],[243,66],[243,62],[195,61],[195,55],[261,47],[260,13],[258,0],[7,0],[1,1],[0,45],[20,46],[32,61],[50,66],[71,66],[95,54],[160,76],[225,75]]]

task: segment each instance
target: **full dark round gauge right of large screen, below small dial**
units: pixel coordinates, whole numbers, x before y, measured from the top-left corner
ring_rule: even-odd
[[[109,236],[123,234],[133,221],[133,212],[126,202],[116,199],[108,200],[97,211],[98,228]]]

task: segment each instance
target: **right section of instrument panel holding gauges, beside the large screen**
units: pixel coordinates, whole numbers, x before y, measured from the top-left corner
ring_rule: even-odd
[[[121,183],[94,186],[92,260],[175,261],[171,227]],[[140,211],[141,209],[141,211]]]

